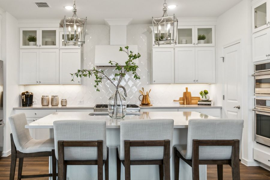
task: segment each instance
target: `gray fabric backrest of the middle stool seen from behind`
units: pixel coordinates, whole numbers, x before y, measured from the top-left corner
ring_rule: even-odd
[[[125,159],[125,140],[170,140],[173,151],[173,119],[125,120],[120,122],[120,159]],[[163,159],[164,147],[131,147],[131,160]]]

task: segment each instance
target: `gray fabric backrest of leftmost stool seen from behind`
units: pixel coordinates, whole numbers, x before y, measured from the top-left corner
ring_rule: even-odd
[[[53,122],[55,156],[58,141],[103,141],[103,160],[107,159],[106,121],[63,120]],[[97,147],[64,147],[65,160],[97,160]]]

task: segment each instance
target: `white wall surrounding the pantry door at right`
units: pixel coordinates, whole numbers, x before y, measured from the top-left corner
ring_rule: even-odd
[[[243,0],[217,18],[217,84],[211,85],[211,91],[216,91],[214,99],[218,105],[223,104],[222,95],[222,49],[223,46],[241,40],[241,58],[243,72],[243,105],[241,107],[244,119],[242,140],[242,162],[252,165],[253,160],[253,71],[252,63],[252,30],[251,2]]]

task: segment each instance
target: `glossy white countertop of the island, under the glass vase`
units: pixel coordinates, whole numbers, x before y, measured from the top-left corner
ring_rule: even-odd
[[[123,120],[146,120],[146,119],[173,119],[174,128],[187,128],[190,119],[216,119],[197,112],[136,112],[139,115],[126,115],[124,119],[111,119],[110,116],[99,116],[97,113],[88,112],[57,112],[38,119],[26,125],[26,128],[53,128],[53,122],[58,120],[105,120],[107,128],[120,128],[120,122]]]

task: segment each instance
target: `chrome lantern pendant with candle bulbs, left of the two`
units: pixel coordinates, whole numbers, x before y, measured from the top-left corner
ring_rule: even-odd
[[[78,18],[77,16],[77,10],[76,10],[76,5],[75,5],[75,0],[73,4],[73,16],[72,17],[66,17],[64,16],[63,20],[63,28],[64,28],[64,41],[65,41],[65,46],[82,46],[85,44],[85,32],[86,32],[86,22],[87,22],[87,17],[85,18]],[[77,27],[81,27],[81,36],[77,36],[77,31],[74,31],[74,39],[71,41],[70,39],[67,39],[67,25],[74,26],[76,24]],[[71,35],[71,34],[70,34]],[[80,40],[81,39],[81,40]],[[68,42],[71,42],[73,44],[67,44]]]

